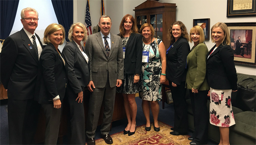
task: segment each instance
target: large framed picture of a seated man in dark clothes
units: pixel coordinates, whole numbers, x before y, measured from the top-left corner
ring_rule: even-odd
[[[256,22],[226,23],[235,64],[256,66]]]

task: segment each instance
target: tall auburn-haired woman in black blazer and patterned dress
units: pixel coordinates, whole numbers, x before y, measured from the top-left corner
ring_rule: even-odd
[[[137,104],[135,94],[139,92],[141,85],[140,73],[142,65],[142,37],[138,33],[136,20],[132,15],[123,17],[119,31],[124,51],[124,82],[116,92],[122,93],[124,97],[124,109],[128,124],[124,134],[131,136],[136,130]]]

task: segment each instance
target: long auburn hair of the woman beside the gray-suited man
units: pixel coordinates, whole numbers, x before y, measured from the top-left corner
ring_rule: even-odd
[[[130,14],[126,14],[123,19],[121,20],[120,26],[119,26],[119,31],[120,31],[120,36],[123,37],[125,34],[125,30],[124,30],[124,22],[127,20],[127,18],[129,18],[132,21],[132,30],[130,32],[131,33],[138,33],[138,27],[136,24],[136,20],[133,18],[132,15]]]

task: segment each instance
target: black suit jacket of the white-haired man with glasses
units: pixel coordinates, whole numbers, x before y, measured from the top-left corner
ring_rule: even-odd
[[[43,47],[40,38],[41,47]],[[32,99],[38,75],[38,56],[23,28],[5,39],[0,57],[1,81],[8,89],[8,98]]]

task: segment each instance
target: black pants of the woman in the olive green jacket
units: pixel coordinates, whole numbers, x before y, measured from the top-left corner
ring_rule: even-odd
[[[192,93],[192,90],[189,90],[195,126],[195,131],[192,137],[194,139],[193,141],[198,145],[205,145],[208,142],[208,92],[209,90],[198,90],[198,93]]]

